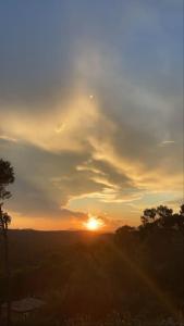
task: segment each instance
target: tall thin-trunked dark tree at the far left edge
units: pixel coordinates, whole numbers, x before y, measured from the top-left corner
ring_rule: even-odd
[[[0,160],[0,231],[4,243],[4,269],[7,281],[7,325],[11,324],[11,293],[10,293],[10,262],[9,262],[9,237],[8,229],[11,217],[3,212],[2,205],[5,199],[11,197],[11,192],[7,190],[7,186],[14,181],[14,172],[10,162]]]

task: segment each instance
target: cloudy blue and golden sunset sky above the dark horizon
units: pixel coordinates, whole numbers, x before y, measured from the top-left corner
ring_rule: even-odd
[[[183,200],[183,0],[0,1],[12,227],[138,225]]]

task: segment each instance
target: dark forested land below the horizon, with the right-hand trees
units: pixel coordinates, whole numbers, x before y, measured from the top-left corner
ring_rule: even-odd
[[[114,311],[176,317],[184,312],[184,205],[145,210],[140,222],[106,235],[10,230],[12,299],[44,298],[52,321]]]

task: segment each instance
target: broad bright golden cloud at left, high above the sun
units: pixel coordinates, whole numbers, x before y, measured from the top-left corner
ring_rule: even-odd
[[[86,133],[94,130],[98,114],[95,103],[85,93],[74,95],[72,100],[59,102],[49,112],[38,110],[34,114],[2,108],[1,129],[9,138],[28,141],[49,151],[82,150]]]

